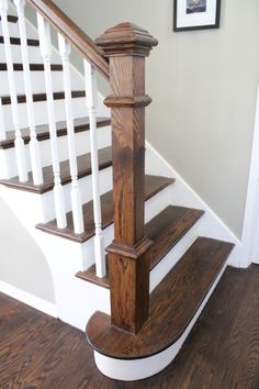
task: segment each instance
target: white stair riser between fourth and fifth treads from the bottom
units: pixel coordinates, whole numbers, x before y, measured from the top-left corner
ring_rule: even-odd
[[[76,140],[76,151],[77,155],[83,155],[90,152],[90,132],[83,131],[75,134]],[[67,136],[59,136],[58,137],[58,151],[59,151],[59,160],[68,159],[68,142]],[[111,145],[111,129],[110,126],[100,127],[98,129],[98,147],[103,148]],[[40,143],[41,147],[41,160],[42,166],[50,166],[52,165],[52,154],[50,154],[50,142],[49,140],[42,141]],[[27,168],[31,171],[31,162],[30,162],[30,153],[29,146],[25,146],[26,151],[26,162]],[[18,176],[18,167],[15,160],[15,152],[14,148],[8,149],[0,149],[0,157],[1,157],[1,169],[0,169],[0,178],[8,179]],[[4,162],[4,163],[3,163]],[[8,166],[8,174],[2,168],[2,166]]]

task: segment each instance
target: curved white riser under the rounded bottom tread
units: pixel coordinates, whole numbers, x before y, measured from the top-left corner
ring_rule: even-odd
[[[209,293],[206,294],[205,299],[203,300],[202,304],[200,305],[199,310],[196,311],[195,315],[193,316],[184,333],[170,347],[159,354],[153,355],[147,358],[127,360],[110,358],[94,351],[94,359],[98,369],[104,376],[122,381],[136,381],[138,379],[148,378],[165,369],[179,353],[181,346],[183,345],[183,342],[191,332],[193,325],[200,316],[217,282],[222,278],[226,267],[227,263],[218,274],[212,288],[210,289]]]

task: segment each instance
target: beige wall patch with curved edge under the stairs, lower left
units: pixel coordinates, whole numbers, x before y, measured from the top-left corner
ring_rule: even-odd
[[[44,254],[0,199],[0,281],[55,302],[53,279]]]

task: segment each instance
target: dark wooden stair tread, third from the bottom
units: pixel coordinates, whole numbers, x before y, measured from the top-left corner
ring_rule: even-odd
[[[145,177],[145,200],[150,199],[157,194],[160,190],[165,189],[169,185],[174,182],[173,178],[146,176]],[[112,190],[101,196],[102,204],[102,227],[105,229],[113,223],[113,199]],[[56,220],[48,223],[37,224],[36,227],[53,235],[61,236],[75,242],[86,242],[94,235],[94,222],[93,222],[93,203],[87,202],[82,207],[83,210],[83,223],[85,233],[75,234],[72,223],[72,212],[67,213],[67,227],[58,229]]]

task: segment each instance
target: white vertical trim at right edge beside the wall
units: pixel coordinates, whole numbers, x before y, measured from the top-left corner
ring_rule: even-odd
[[[251,149],[251,160],[250,160],[250,173],[248,179],[248,189],[247,189],[247,199],[245,208],[245,218],[243,225],[243,255],[240,259],[241,267],[248,267],[251,264],[252,258],[252,248],[256,235],[258,236],[257,219],[259,211],[259,203],[257,198],[259,196],[259,88],[257,95],[257,109],[256,109],[256,122],[255,122],[255,132],[252,140],[252,149]],[[257,218],[256,218],[257,216]]]

